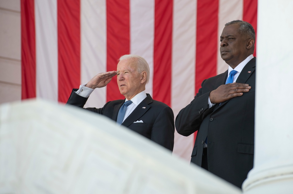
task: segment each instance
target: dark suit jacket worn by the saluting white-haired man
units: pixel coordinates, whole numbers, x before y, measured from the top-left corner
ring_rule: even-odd
[[[83,108],[88,98],[77,95],[75,91],[77,89],[72,90],[67,104]],[[107,102],[103,108],[86,109],[116,121],[118,111],[124,102],[125,99],[115,100]],[[143,123],[134,123],[137,120],[142,120]],[[122,122],[122,125],[173,151],[175,131],[173,110],[168,105],[153,100],[149,94]]]

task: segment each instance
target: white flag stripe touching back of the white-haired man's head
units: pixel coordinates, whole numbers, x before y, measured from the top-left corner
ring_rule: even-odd
[[[130,1],[130,54],[144,57],[150,79],[146,92],[153,96],[154,75],[154,1]]]

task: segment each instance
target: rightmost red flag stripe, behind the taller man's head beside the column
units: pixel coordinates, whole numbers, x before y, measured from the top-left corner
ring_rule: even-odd
[[[243,21],[251,23],[255,30],[257,27],[257,0],[243,0]],[[256,43],[256,36],[255,36]],[[254,48],[253,56],[256,57],[256,44]]]

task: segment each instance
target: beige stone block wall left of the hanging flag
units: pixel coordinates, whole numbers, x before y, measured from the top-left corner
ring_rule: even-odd
[[[0,0],[0,104],[21,100],[20,0]]]

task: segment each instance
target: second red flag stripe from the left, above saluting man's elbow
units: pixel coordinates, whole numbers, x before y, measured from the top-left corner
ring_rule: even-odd
[[[58,101],[80,85],[80,1],[58,0]]]

